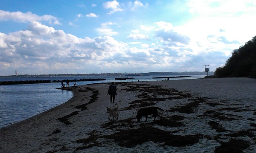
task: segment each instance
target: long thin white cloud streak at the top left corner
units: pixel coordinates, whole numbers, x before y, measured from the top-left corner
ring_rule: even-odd
[[[20,11],[9,12],[0,10],[0,21],[7,20],[14,20],[21,23],[48,21],[50,24],[60,24],[57,17],[53,17],[52,15],[38,16],[36,14],[32,14],[32,12],[23,13]]]

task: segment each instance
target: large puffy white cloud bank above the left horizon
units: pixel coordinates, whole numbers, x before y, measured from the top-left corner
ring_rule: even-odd
[[[38,74],[40,71],[36,67],[40,65],[48,71],[62,69],[65,65],[80,69],[81,65],[93,63],[94,60],[111,61],[116,54],[126,57],[123,51],[127,47],[128,44],[110,36],[81,39],[63,30],[33,22],[26,31],[0,33],[0,63],[20,71],[30,69]]]

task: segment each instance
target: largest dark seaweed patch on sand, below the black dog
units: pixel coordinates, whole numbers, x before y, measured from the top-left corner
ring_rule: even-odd
[[[162,143],[163,145],[183,147],[199,142],[199,135],[172,135],[168,131],[160,130],[154,127],[140,127],[138,129],[122,130],[120,132],[102,136],[106,139],[113,139],[121,147],[135,147],[137,144],[143,144],[148,141]]]

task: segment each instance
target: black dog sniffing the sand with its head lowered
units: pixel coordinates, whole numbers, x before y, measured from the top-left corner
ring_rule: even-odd
[[[148,107],[148,108],[141,108],[138,113],[137,113],[137,122],[140,122],[140,119],[142,116],[145,116],[146,117],[146,122],[148,120],[148,115],[151,115],[153,114],[154,116],[154,120],[156,119],[156,116],[159,116],[158,113],[157,113],[157,109],[163,111],[162,108],[158,108],[158,107]],[[161,118],[161,116],[159,116]]]

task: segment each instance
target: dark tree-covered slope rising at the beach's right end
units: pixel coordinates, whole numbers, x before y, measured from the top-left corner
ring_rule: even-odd
[[[215,76],[256,78],[256,36],[239,49],[233,50],[225,65],[216,68]]]

